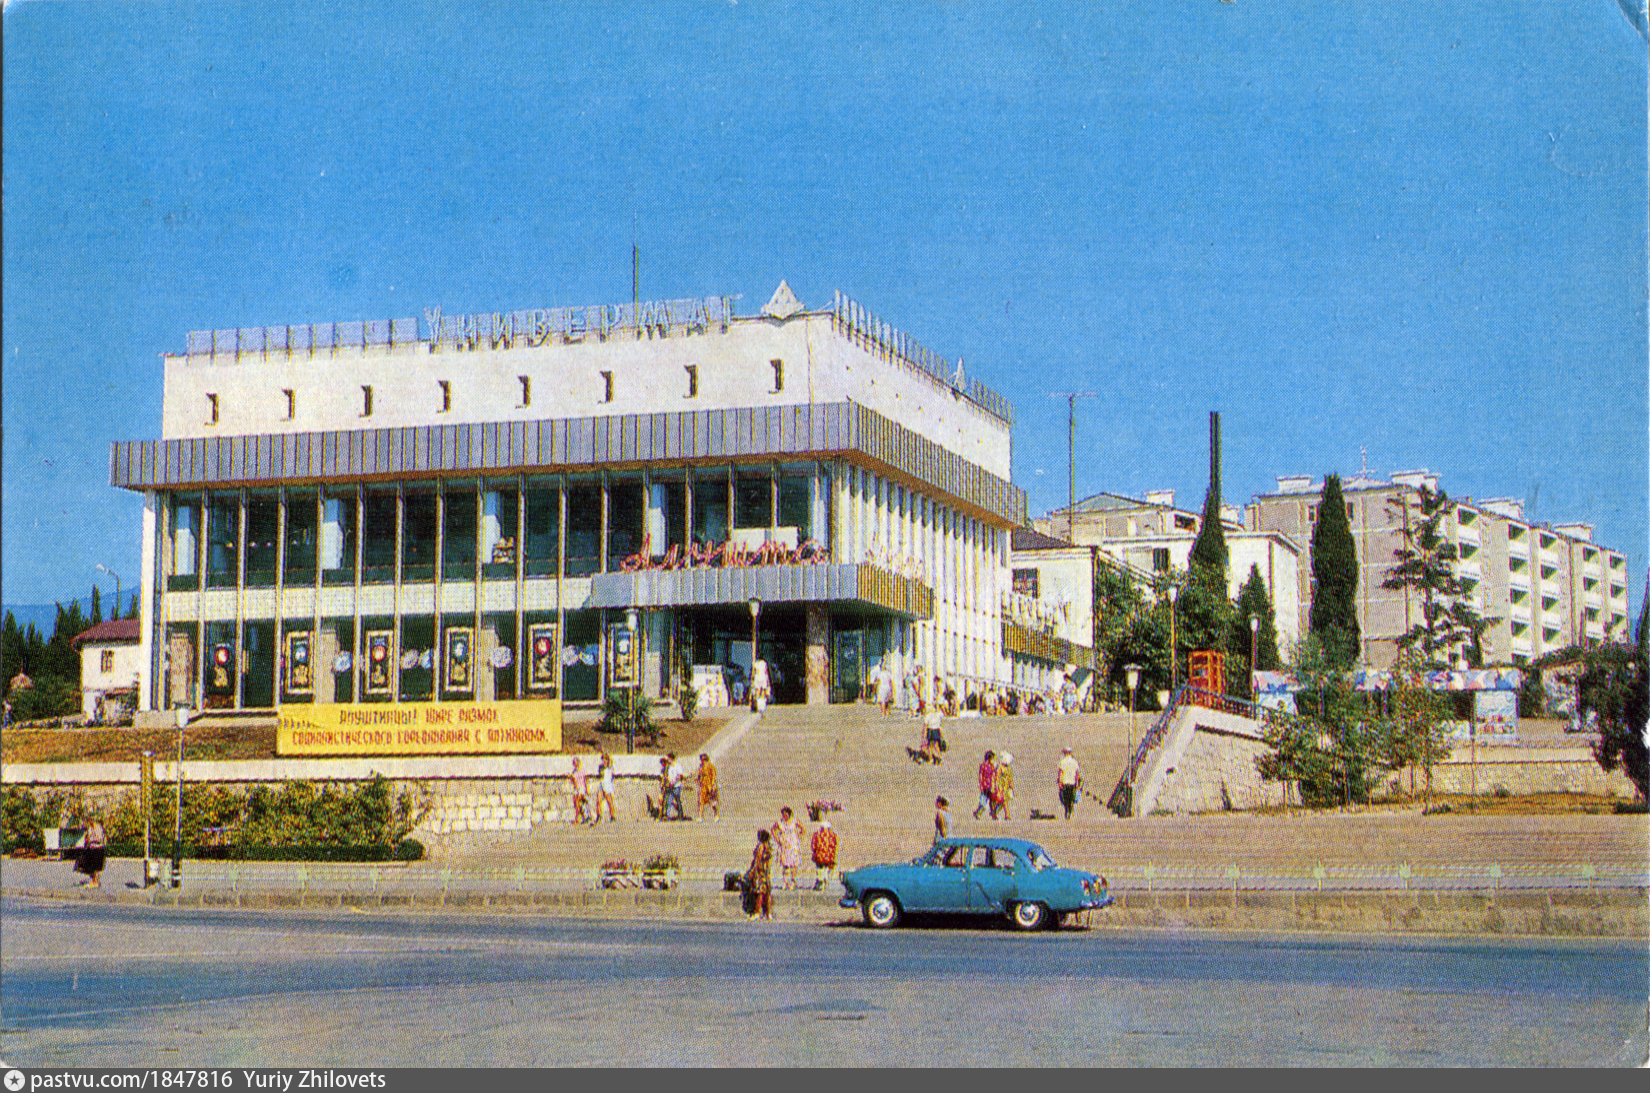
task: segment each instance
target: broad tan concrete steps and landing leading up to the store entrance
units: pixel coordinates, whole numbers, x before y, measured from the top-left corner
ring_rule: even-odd
[[[546,824],[487,845],[442,857],[462,865],[589,868],[602,860],[676,854],[685,867],[742,868],[756,829],[772,826],[789,804],[812,832],[804,806],[835,799],[833,816],[848,868],[908,859],[932,837],[934,796],[952,802],[954,830],[990,832],[1041,842],[1056,860],[1094,868],[1119,865],[1279,867],[1521,862],[1642,862],[1643,817],[1533,816],[1473,817],[1406,812],[1310,816],[1213,814],[1119,821],[1102,802],[1084,799],[1076,819],[1031,821],[1033,807],[1058,812],[1054,764],[1071,743],[1087,788],[1106,797],[1124,768],[1129,741],[1143,731],[1140,715],[1046,718],[954,718],[950,750],[939,766],[906,756],[919,741],[909,713],[883,718],[870,707],[776,707],[734,743],[718,764],[721,822],[622,819],[601,827]],[[1013,756],[1015,804],[1008,822],[974,821],[975,768],[985,748]],[[691,786],[688,812],[696,812]],[[804,873],[810,875],[807,864]]]

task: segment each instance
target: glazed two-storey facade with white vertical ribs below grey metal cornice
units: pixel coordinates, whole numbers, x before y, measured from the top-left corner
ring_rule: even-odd
[[[729,540],[780,551],[746,565],[799,570],[787,581],[830,561],[932,589],[931,616],[916,621],[860,603],[851,586],[842,596],[853,604],[820,604],[812,621],[802,603],[767,606],[761,655],[774,698],[804,702],[817,685],[846,702],[878,662],[988,677],[997,570],[1010,583],[1005,532],[845,462],[180,492],[163,513],[165,594],[193,594],[186,609],[201,619],[191,624],[198,641],[178,637],[175,655],[168,646],[167,687],[216,707],[599,702],[604,636],[624,608],[587,606],[591,580],[719,566],[688,553]],[[820,553],[782,553],[810,540]],[[208,598],[226,588],[271,593]],[[729,684],[749,670],[742,603],[655,601],[647,611],[650,693],[686,682],[695,665],[721,665]],[[810,647],[827,667],[810,667]],[[810,680],[810,670],[823,675]]]

